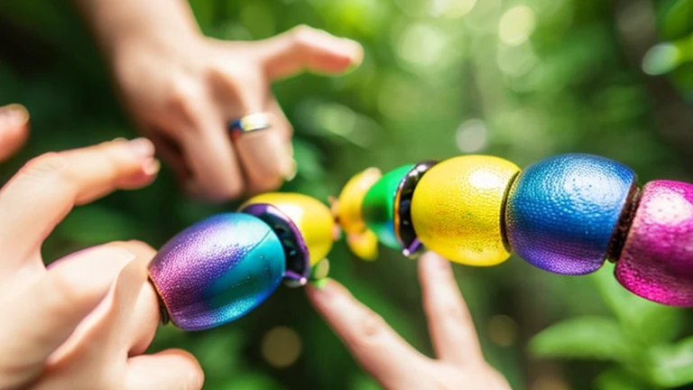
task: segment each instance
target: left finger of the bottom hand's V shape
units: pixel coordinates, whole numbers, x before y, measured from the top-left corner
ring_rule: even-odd
[[[383,318],[341,284],[328,280],[321,288],[307,287],[319,313],[347,345],[358,363],[386,388],[421,389],[431,361],[412,348]]]

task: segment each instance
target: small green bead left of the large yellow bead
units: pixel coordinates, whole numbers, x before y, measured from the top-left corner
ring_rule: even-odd
[[[413,167],[414,164],[408,164],[385,173],[364,198],[362,213],[365,225],[374,231],[384,246],[393,249],[401,249],[394,235],[394,197],[400,181]]]

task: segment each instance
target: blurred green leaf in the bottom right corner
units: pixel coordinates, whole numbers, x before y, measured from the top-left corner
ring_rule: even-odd
[[[649,351],[648,373],[652,382],[666,387],[693,383],[693,337]]]

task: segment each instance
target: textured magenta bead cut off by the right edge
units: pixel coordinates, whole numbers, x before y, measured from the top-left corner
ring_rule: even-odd
[[[693,307],[693,185],[651,181],[643,187],[615,276],[647,300]]]

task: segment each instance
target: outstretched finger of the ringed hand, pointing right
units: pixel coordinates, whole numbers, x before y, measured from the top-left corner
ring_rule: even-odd
[[[359,43],[304,25],[257,42],[254,50],[270,79],[285,78],[304,69],[341,73],[359,65],[364,58]]]

